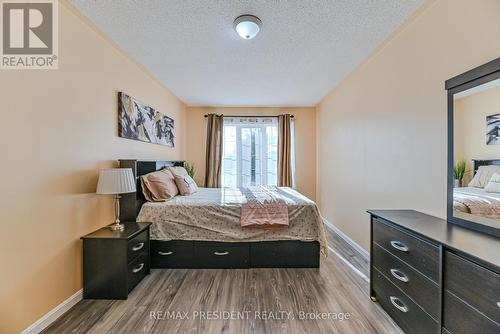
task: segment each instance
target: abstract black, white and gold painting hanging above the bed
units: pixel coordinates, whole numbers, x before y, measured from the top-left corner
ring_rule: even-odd
[[[119,92],[118,135],[122,138],[174,147],[174,120]]]

